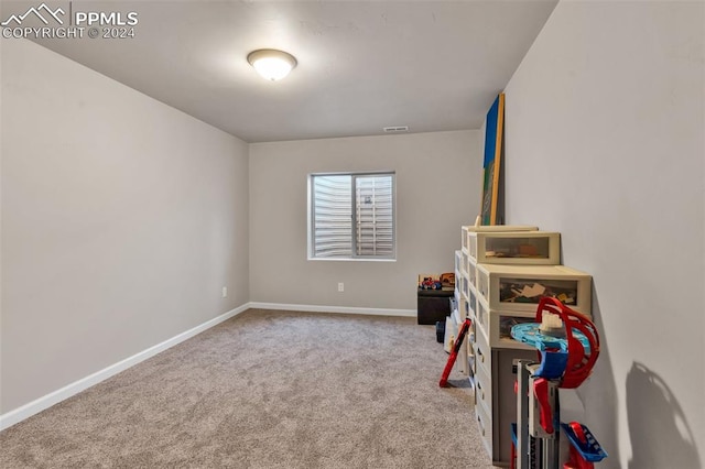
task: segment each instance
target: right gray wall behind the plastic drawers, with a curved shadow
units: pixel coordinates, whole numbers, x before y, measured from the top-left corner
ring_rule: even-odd
[[[561,2],[506,88],[507,219],[594,275],[605,468],[705,465],[702,2]]]

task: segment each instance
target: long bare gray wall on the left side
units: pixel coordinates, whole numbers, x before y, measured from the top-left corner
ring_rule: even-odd
[[[0,413],[249,299],[247,144],[2,43]]]

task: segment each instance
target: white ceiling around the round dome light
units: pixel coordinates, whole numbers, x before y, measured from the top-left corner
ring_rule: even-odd
[[[556,2],[73,1],[137,12],[135,37],[37,42],[247,142],[478,129]],[[267,81],[257,48],[299,66]]]

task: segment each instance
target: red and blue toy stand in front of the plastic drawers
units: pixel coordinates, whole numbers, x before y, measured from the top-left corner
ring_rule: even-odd
[[[560,422],[558,389],[578,388],[590,375],[599,356],[597,328],[587,316],[557,298],[543,297],[536,308],[536,321],[513,326],[511,336],[541,355],[539,363],[519,361],[512,469],[557,469],[561,433],[572,444],[563,469],[592,469],[593,462],[607,454],[587,427],[577,422]]]

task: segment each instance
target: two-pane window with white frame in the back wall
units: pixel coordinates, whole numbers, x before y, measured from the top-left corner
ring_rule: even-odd
[[[310,259],[394,259],[394,173],[312,174]]]

